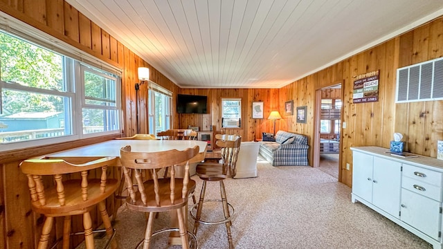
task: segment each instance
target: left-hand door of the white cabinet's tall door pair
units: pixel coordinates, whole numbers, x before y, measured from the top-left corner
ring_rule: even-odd
[[[352,194],[372,203],[372,162],[374,156],[352,153]]]

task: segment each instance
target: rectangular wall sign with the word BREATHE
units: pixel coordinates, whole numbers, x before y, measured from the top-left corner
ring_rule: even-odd
[[[355,79],[352,103],[379,101],[379,71],[357,75]]]

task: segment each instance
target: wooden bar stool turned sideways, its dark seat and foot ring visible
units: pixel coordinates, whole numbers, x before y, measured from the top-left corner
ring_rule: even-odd
[[[232,225],[231,219],[235,214],[235,209],[233,208],[226,198],[226,191],[224,188],[223,180],[227,177],[235,176],[235,165],[237,163],[237,156],[240,149],[240,143],[242,141],[241,136],[237,135],[226,135],[226,134],[217,134],[215,135],[217,139],[216,145],[221,147],[221,163],[201,163],[197,165],[197,176],[203,180],[203,185],[201,187],[200,199],[199,203],[195,204],[191,209],[191,216],[195,219],[194,230],[193,233],[197,234],[197,230],[199,228],[199,223],[203,223],[206,225],[218,225],[225,223],[226,232],[228,233],[228,243],[229,248],[233,248],[233,239],[230,234],[230,226]],[[220,183],[220,194],[221,199],[211,199],[204,200],[205,192],[206,192],[206,183],[216,182]],[[222,203],[224,219],[221,221],[203,221],[201,220],[201,211],[203,209],[204,202],[207,201],[218,201]],[[192,211],[197,206],[197,214],[193,214]],[[232,214],[230,213],[230,209],[232,209]]]

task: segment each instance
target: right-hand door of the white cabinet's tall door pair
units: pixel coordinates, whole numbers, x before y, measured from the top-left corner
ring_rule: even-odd
[[[401,163],[374,157],[372,204],[399,218]]]

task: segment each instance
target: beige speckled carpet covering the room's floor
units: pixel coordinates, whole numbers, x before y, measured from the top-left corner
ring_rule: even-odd
[[[350,187],[319,169],[272,167],[264,160],[257,167],[257,178],[225,181],[236,210],[235,248],[432,248],[365,205],[352,203]],[[192,178],[199,191],[201,181]],[[219,196],[218,183],[208,183],[206,196]],[[155,222],[155,229],[167,226],[168,215],[160,214]],[[123,205],[114,228],[119,248],[135,248],[144,236],[145,216]],[[224,225],[200,225],[197,239],[199,248],[228,248]]]

